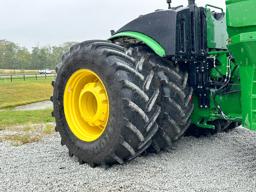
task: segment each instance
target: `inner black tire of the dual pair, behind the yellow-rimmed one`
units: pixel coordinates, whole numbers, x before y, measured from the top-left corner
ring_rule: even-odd
[[[126,48],[134,48],[129,44]],[[191,120],[189,116],[193,110],[190,102],[193,89],[188,86],[188,72],[180,68],[180,64],[164,59],[156,55],[152,49],[145,46],[134,48],[136,55],[143,55],[145,61],[154,66],[156,76],[159,80],[159,96],[156,100],[161,107],[161,112],[156,122],[159,128],[152,137],[152,144],[146,152],[160,152],[162,148],[168,148],[184,134]]]

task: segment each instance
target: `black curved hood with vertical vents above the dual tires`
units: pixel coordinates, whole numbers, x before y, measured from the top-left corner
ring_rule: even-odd
[[[204,56],[207,45],[200,43],[201,11],[195,7],[179,6],[140,16],[113,33],[108,40],[124,37],[124,32],[136,32],[147,36],[152,44],[160,45],[165,51],[165,55],[160,56]],[[206,27],[202,27],[202,31],[206,32]]]

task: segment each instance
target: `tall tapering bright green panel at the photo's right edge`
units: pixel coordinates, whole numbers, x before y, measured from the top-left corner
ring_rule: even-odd
[[[256,130],[256,1],[226,0],[226,4],[227,47],[240,67],[243,126]]]

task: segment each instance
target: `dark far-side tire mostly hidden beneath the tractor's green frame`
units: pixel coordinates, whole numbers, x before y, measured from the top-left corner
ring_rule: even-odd
[[[215,128],[201,128],[195,124],[191,124],[185,132],[185,136],[195,136],[197,138],[200,136],[211,136],[218,132],[228,131],[241,125],[240,123],[220,119],[209,121],[208,124],[213,125]]]

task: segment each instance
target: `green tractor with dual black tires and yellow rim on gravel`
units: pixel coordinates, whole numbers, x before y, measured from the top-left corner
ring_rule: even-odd
[[[122,164],[184,134],[256,130],[256,0],[226,0],[226,13],[167,3],[108,40],[73,45],[56,66],[52,116],[80,164]]]

